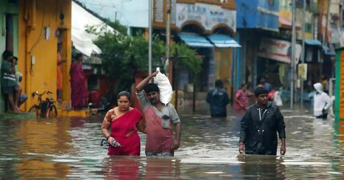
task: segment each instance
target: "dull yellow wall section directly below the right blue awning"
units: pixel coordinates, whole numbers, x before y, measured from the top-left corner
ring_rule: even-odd
[[[224,88],[230,95],[230,87],[233,82],[231,80],[231,69],[232,69],[232,48],[215,48],[215,77],[221,79]]]

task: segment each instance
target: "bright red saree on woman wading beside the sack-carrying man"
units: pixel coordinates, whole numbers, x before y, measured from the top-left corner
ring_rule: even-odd
[[[105,118],[110,119],[109,122],[111,122],[111,137],[118,141],[122,147],[109,146],[108,155],[140,156],[141,144],[136,128],[136,124],[142,117],[140,111],[134,108],[117,119],[115,119],[114,114],[114,109],[111,109]],[[127,134],[132,130],[134,132],[127,137]]]

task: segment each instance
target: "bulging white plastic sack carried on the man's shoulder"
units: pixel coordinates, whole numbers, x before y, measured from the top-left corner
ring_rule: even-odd
[[[157,84],[159,87],[160,102],[164,105],[170,103],[173,90],[168,77],[166,77],[165,74],[159,72],[157,76],[154,77],[154,83]]]

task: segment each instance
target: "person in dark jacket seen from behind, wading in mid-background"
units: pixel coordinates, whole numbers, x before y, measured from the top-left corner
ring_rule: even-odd
[[[215,88],[208,92],[205,101],[210,105],[212,117],[227,117],[226,106],[229,104],[229,97],[221,80],[215,81]]]

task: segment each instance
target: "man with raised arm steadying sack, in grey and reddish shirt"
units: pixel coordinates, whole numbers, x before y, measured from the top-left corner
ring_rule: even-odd
[[[146,120],[145,152],[146,156],[174,156],[174,150],[180,145],[181,124],[173,105],[161,103],[158,85],[149,83],[158,73],[152,73],[136,86],[136,95]],[[171,122],[175,125],[175,139]]]

